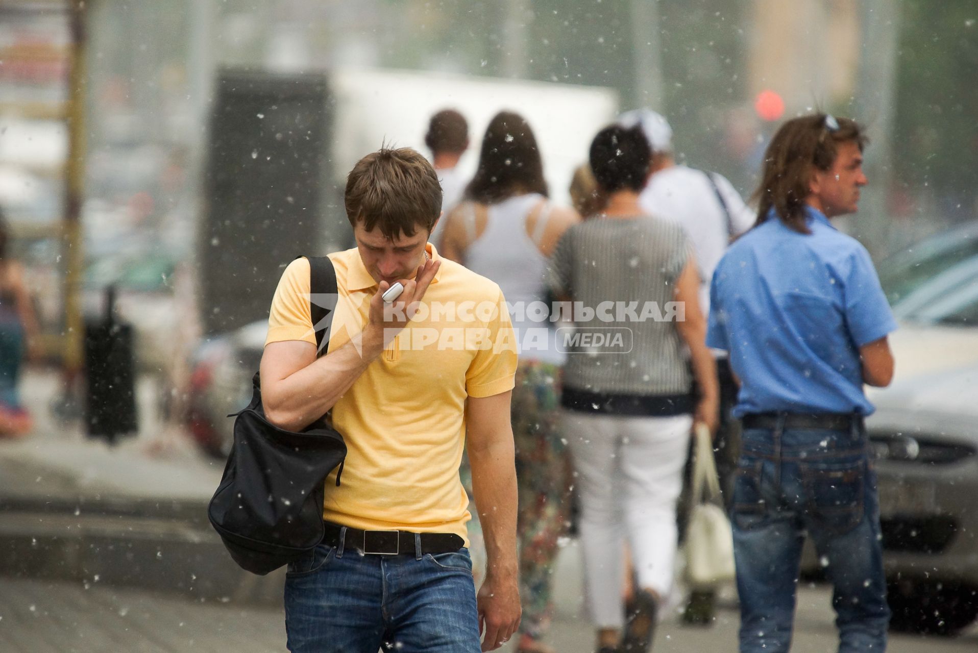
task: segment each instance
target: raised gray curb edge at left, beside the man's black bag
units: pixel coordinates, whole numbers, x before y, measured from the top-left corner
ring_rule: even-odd
[[[281,606],[285,569],[239,568],[206,510],[206,500],[85,488],[54,466],[0,457],[0,576]]]

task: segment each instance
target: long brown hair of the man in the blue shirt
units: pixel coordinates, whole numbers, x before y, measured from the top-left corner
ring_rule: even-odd
[[[758,201],[757,224],[766,222],[774,208],[785,226],[811,233],[805,225],[805,200],[811,195],[812,173],[832,167],[842,143],[856,143],[862,152],[869,143],[865,128],[851,118],[825,113],[803,115],[781,125],[764,154],[761,185],[753,196]]]

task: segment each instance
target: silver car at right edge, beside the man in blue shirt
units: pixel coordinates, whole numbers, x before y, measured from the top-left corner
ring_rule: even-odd
[[[883,563],[900,631],[978,617],[978,236],[932,239],[888,283],[896,381],[869,389]],[[942,237],[943,238],[943,237]],[[938,246],[941,245],[941,246]],[[922,273],[926,269],[928,276]],[[881,274],[882,278],[882,274]],[[884,288],[886,286],[884,285]]]

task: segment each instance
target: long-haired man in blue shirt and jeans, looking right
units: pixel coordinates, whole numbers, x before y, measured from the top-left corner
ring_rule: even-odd
[[[863,384],[893,376],[896,328],[866,248],[829,219],[857,210],[863,128],[818,113],[765,156],[757,226],[717,266],[706,343],[730,352],[743,420],[733,487],[740,651],[787,651],[804,533],[834,586],[839,651],[883,651],[886,603]]]

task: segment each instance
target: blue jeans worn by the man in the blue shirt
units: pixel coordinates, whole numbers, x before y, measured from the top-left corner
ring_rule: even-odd
[[[865,431],[745,429],[741,442],[731,510],[741,653],[788,650],[806,531],[834,588],[840,653],[884,651],[890,609]]]

